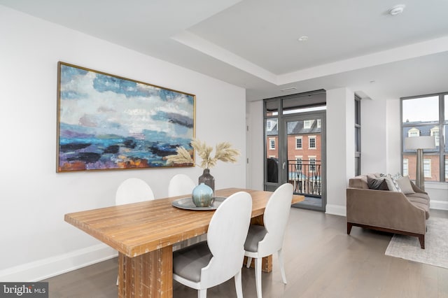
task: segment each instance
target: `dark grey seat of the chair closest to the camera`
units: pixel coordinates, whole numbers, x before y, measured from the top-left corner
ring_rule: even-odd
[[[173,253],[173,273],[190,281],[201,280],[201,269],[209,264],[211,252],[207,241],[176,250]]]

